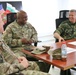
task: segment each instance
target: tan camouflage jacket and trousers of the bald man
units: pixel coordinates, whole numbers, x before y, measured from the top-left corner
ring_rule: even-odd
[[[7,26],[6,30],[3,33],[4,41],[18,57],[26,56],[23,52],[21,52],[22,49],[32,47],[32,45],[29,44],[22,44],[22,38],[26,38],[28,41],[32,39],[34,42],[38,40],[35,28],[28,22],[25,25],[20,26],[16,21],[14,21]],[[37,64],[39,65],[40,70],[43,72],[48,72],[50,69],[50,65],[45,62],[37,62]],[[41,69],[42,66],[46,69]]]

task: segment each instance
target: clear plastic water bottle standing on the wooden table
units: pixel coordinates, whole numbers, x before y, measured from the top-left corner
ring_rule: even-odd
[[[66,61],[67,60],[67,45],[66,45],[65,41],[62,42],[61,57],[62,57],[62,61]]]

